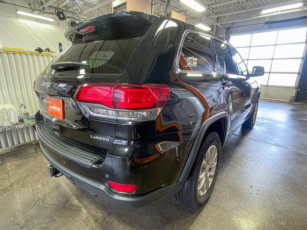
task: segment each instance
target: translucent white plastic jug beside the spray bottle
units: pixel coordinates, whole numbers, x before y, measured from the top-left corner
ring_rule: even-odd
[[[0,104],[0,127],[11,126],[18,122],[18,112],[15,105]]]

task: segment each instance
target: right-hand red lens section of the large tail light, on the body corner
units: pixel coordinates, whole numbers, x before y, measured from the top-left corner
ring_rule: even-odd
[[[169,99],[169,87],[164,85],[117,85],[114,91],[115,109],[161,108]]]

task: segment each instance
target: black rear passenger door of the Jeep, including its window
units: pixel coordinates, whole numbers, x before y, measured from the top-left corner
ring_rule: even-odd
[[[241,120],[242,104],[244,98],[244,81],[237,75],[231,47],[216,38],[215,45],[215,72],[220,78],[221,85],[226,95],[226,103],[230,111],[229,132],[235,130]]]

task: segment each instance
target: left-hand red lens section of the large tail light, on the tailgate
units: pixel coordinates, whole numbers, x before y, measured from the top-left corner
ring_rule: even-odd
[[[113,107],[112,97],[115,84],[84,84],[76,90],[78,102],[94,103]]]

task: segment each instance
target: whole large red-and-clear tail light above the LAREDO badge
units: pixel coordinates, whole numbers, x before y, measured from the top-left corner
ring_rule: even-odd
[[[166,85],[84,84],[74,97],[91,115],[137,120],[157,115],[169,91]]]

